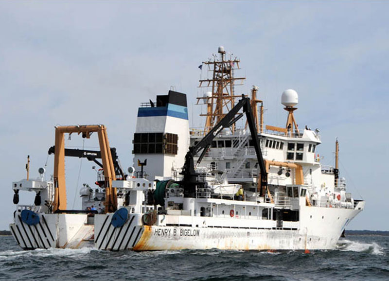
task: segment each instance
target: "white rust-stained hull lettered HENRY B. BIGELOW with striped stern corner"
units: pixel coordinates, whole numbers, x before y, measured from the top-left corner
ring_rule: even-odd
[[[192,225],[166,226],[163,222],[179,220],[179,216],[159,215],[156,226],[143,226],[141,215],[130,214],[121,228],[114,228],[109,222],[112,214],[95,216],[95,247],[105,250],[132,249],[180,250],[180,249],[224,249],[224,250],[313,250],[334,249],[347,224],[361,211],[363,203],[355,209],[306,207],[300,222],[293,222],[296,230],[287,230],[287,223],[277,229],[276,221],[269,221],[269,227],[258,229],[234,227],[235,223],[245,225],[244,219],[230,218],[231,227],[223,225],[223,219],[206,217],[184,217]],[[312,215],[312,219],[310,216]],[[174,218],[175,217],[175,218]],[[321,218],[323,217],[323,218]],[[199,222],[207,227],[197,227]],[[235,222],[233,222],[235,221]],[[238,222],[239,221],[239,222]]]

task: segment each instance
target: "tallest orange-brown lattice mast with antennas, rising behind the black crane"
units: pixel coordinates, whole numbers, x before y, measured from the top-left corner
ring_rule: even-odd
[[[200,114],[200,116],[206,116],[204,135],[234,107],[235,98],[241,97],[234,95],[234,86],[243,85],[243,80],[246,79],[245,77],[234,77],[234,70],[240,69],[239,59],[232,58],[232,54],[227,59],[223,46],[219,47],[218,53],[219,58],[214,54],[213,61],[210,59],[202,64],[208,66],[208,71],[212,71],[212,79],[199,80],[199,88],[211,88],[212,90],[209,94],[197,98],[197,104],[200,100],[207,104],[207,113]],[[236,81],[240,83],[237,84]],[[235,125],[231,126],[231,130],[233,133]]]

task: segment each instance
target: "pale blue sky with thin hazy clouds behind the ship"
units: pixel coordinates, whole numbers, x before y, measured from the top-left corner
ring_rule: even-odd
[[[203,126],[198,66],[221,45],[247,78],[236,93],[259,87],[265,124],[284,126],[281,94],[293,88],[297,123],[320,129],[323,164],[334,165],[338,138],[340,175],[366,200],[348,229],[389,230],[388,10],[387,1],[1,1],[0,230],[27,155],[31,177],[45,164],[53,174],[55,125],[105,124],[125,169],[141,102],[186,93],[191,126]],[[67,145],[97,149],[77,136]],[[95,181],[91,166],[66,159],[69,207]]]

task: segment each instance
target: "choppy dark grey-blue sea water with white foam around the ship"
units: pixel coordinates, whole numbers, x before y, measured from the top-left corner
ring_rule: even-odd
[[[389,280],[389,236],[348,236],[335,250],[23,251],[0,237],[0,280]]]

